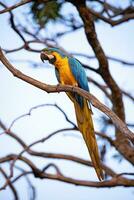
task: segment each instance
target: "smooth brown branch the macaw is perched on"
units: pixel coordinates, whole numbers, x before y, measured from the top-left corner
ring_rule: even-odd
[[[14,76],[48,93],[71,91],[80,94],[81,96],[89,100],[94,107],[105,113],[112,120],[116,128],[119,129],[120,132],[123,133],[124,136],[126,136],[134,144],[134,134],[127,128],[126,124],[123,123],[123,121],[119,119],[119,117],[113,111],[111,111],[108,107],[103,105],[95,96],[91,95],[89,92],[84,91],[81,88],[70,85],[58,85],[58,86],[47,85],[36,79],[33,79],[23,74],[19,70],[15,69],[6,59],[2,50],[0,50],[0,60]]]

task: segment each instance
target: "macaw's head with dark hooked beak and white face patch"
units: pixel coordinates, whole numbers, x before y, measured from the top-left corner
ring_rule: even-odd
[[[48,60],[51,64],[54,64],[58,59],[62,59],[64,57],[66,57],[66,55],[58,48],[45,48],[40,54],[42,62],[44,62],[44,60]]]

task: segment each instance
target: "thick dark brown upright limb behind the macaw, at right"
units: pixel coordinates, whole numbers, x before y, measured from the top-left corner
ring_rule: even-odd
[[[72,2],[76,6],[80,17],[83,20],[87,40],[91,45],[99,63],[98,73],[101,75],[101,77],[111,90],[113,111],[118,115],[120,119],[122,119],[125,122],[125,111],[124,111],[122,92],[110,73],[107,57],[96,34],[93,14],[90,11],[90,9],[86,6],[85,0],[82,1],[70,0],[70,2]],[[129,162],[134,163],[134,149],[132,149],[128,140],[124,138],[122,131],[116,129],[115,136],[116,136],[116,144],[118,144],[118,151],[122,155],[124,155]],[[126,151],[129,152],[129,155],[128,154],[126,155]]]

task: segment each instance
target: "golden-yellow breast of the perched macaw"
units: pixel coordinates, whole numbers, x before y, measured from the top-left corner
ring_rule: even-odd
[[[54,65],[59,71],[61,84],[76,86],[77,81],[75,80],[75,77],[73,76],[71,69],[69,67],[68,58],[67,57],[62,58],[56,52],[54,52],[53,55],[56,57]]]

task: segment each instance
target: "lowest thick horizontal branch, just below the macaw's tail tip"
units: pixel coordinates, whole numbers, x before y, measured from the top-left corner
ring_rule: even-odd
[[[0,163],[10,161],[14,158],[16,158],[17,155],[12,154],[6,156],[6,158],[1,158]],[[26,163],[33,171],[33,174],[35,177],[41,178],[41,179],[51,179],[51,180],[57,180],[61,182],[66,182],[74,185],[80,185],[80,186],[87,186],[87,187],[117,187],[117,186],[125,186],[125,187],[133,187],[134,186],[134,180],[127,179],[120,176],[115,176],[111,180],[103,181],[103,182],[94,182],[94,181],[85,181],[85,180],[77,180],[73,179],[67,176],[64,176],[63,174],[50,174],[45,173],[42,170],[38,169],[29,159],[20,156],[18,158],[19,160],[22,160],[24,163]]]

